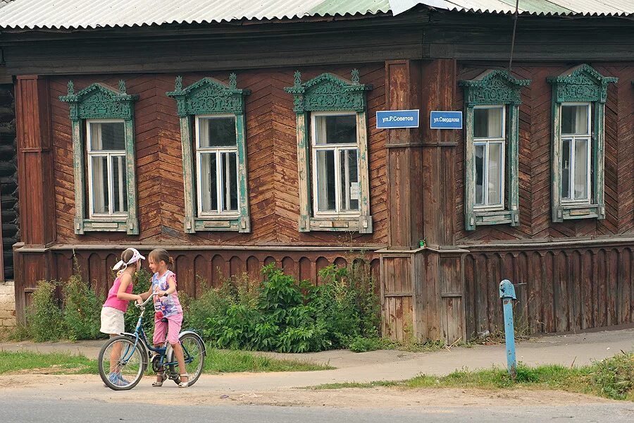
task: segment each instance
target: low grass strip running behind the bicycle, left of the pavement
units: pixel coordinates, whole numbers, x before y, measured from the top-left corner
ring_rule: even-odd
[[[308,372],[332,369],[325,364],[278,360],[244,351],[207,350],[205,373]],[[0,351],[0,374],[98,374],[97,360],[64,353]]]

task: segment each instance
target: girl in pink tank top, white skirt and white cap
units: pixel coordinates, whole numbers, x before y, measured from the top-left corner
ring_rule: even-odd
[[[101,307],[101,329],[99,331],[108,333],[111,338],[119,336],[125,332],[123,315],[128,309],[128,302],[137,301],[141,304],[147,295],[136,295],[132,293],[132,275],[141,269],[141,260],[145,259],[135,248],[128,248],[121,254],[121,260],[113,267],[117,270],[117,278],[112,288],[108,291],[108,297]],[[122,269],[123,267],[123,269]],[[121,355],[121,343],[116,343],[112,349],[110,357],[110,374],[108,378],[113,384],[127,385],[129,382],[123,379],[121,373],[116,369],[116,362]]]

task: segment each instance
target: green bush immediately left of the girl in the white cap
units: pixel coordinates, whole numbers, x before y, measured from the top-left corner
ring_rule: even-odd
[[[79,271],[62,284],[62,293],[64,336],[71,341],[104,338],[106,335],[99,332],[104,298],[82,280]]]

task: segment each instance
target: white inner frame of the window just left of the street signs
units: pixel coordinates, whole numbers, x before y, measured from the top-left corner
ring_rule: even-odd
[[[317,144],[317,124],[316,118],[318,116],[354,116],[355,128],[356,128],[356,142],[354,144]],[[342,211],[342,193],[341,193],[341,164],[340,164],[340,152],[356,149],[356,180],[359,184],[359,209],[352,212]],[[317,152],[318,151],[333,151],[335,154],[335,211],[322,212],[318,207],[318,190],[320,185],[318,184],[317,175]],[[347,157],[347,156],[346,156]],[[312,166],[312,179],[313,179],[313,215],[315,217],[328,217],[337,218],[339,216],[345,217],[358,217],[361,215],[361,172],[359,170],[359,125],[356,123],[356,111],[313,111],[311,112],[311,166]],[[349,184],[346,186],[349,189]]]

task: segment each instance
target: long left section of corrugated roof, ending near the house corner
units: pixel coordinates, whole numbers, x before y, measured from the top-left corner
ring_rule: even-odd
[[[0,11],[0,27],[116,27],[387,11],[388,0],[13,0]]]

